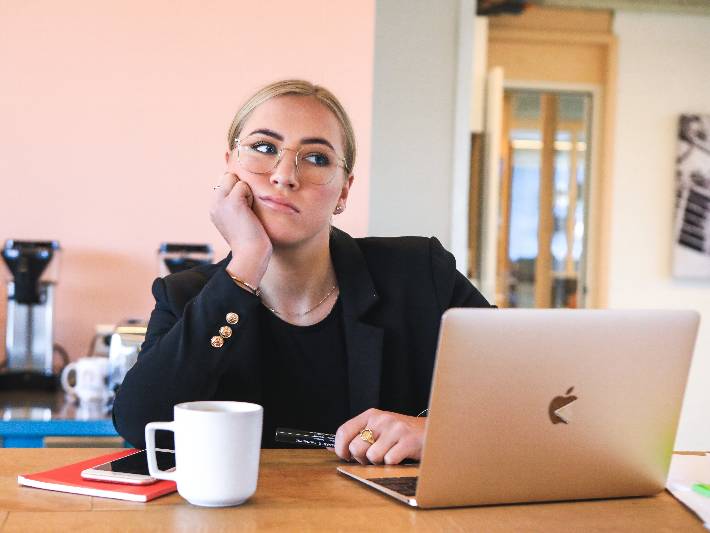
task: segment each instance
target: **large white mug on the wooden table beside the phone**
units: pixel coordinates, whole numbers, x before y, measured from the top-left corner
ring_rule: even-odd
[[[148,470],[177,483],[193,505],[239,505],[256,491],[264,409],[244,402],[187,402],[173,408],[174,422],[145,426]],[[175,470],[158,469],[155,431],[175,433]]]

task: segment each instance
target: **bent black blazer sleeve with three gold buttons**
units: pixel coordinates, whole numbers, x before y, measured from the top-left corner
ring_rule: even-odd
[[[137,448],[145,447],[145,425],[173,419],[173,406],[181,402],[214,398],[220,380],[235,363],[246,374],[256,372],[259,298],[238,287],[219,269],[200,292],[185,304],[182,313],[171,302],[169,282],[153,283],[155,308],[136,364],[118,390],[113,420],[118,433]],[[228,325],[226,316],[239,320],[229,327],[222,347],[211,344]],[[254,376],[247,381],[255,381]],[[258,380],[257,380],[258,381]],[[170,446],[158,433],[159,446]],[[161,438],[162,437],[162,438]]]

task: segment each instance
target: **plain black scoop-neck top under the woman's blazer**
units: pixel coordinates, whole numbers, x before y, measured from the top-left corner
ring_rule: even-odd
[[[348,420],[348,370],[340,299],[312,326],[294,326],[262,309],[264,447],[277,427],[335,433]]]

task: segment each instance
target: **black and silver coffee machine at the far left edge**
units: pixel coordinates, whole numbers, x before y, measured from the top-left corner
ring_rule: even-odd
[[[57,241],[8,240],[7,327],[0,388],[53,389],[54,287],[59,274]]]

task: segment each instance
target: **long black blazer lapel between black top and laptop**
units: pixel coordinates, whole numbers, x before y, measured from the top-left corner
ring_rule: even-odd
[[[356,416],[380,401],[384,330],[363,320],[379,297],[355,239],[333,228],[330,252],[343,305],[350,413]]]

